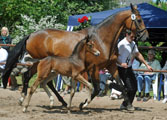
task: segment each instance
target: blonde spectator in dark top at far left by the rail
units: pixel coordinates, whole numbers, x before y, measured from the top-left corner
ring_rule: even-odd
[[[2,27],[1,36],[0,36],[0,44],[11,44],[11,43],[12,43],[12,39],[10,38],[8,28]],[[9,52],[9,49],[10,49],[9,46],[3,46],[3,48]]]

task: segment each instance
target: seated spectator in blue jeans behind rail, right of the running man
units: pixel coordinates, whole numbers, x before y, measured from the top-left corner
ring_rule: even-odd
[[[155,59],[155,51],[149,50],[148,51],[148,61],[147,64],[150,65],[154,70],[160,70],[161,65],[158,60]],[[141,64],[139,69],[146,69],[146,67]],[[150,87],[152,80],[155,80],[156,74],[154,72],[140,72],[137,76],[137,85],[138,85],[138,92],[139,95],[137,97],[137,101],[141,101],[141,91],[143,88],[143,82],[145,83],[145,95],[143,101],[146,102],[150,99]]]

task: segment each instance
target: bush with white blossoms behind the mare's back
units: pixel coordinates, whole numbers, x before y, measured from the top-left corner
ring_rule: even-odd
[[[56,28],[63,29],[64,25],[56,24],[56,16],[46,16],[36,22],[31,16],[21,15],[22,25],[16,25],[16,29],[13,31],[14,39],[13,44],[18,43],[24,36],[29,35],[35,31],[45,29],[45,28]]]

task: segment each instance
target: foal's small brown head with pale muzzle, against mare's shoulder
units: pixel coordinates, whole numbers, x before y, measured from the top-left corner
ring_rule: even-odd
[[[95,56],[100,55],[100,51],[96,48],[93,40],[90,40],[89,36],[86,38],[86,50]]]

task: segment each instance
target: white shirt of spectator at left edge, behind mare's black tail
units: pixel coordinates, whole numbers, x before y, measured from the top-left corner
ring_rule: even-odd
[[[8,57],[8,52],[4,48],[0,48],[0,62],[6,62]],[[0,65],[2,69],[5,68],[5,65]]]

